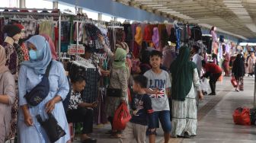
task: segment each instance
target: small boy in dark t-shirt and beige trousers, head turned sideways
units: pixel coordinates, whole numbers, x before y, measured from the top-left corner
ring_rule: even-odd
[[[120,138],[121,143],[132,143],[134,138],[137,143],[146,143],[147,125],[149,125],[149,129],[152,129],[153,110],[149,94],[146,94],[145,91],[147,82],[148,79],[143,75],[133,78],[133,91],[136,95],[131,103],[132,119],[126,124],[126,129],[124,129],[122,138]]]

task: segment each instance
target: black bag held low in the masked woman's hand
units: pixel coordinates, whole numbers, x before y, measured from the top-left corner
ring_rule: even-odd
[[[59,138],[66,135],[66,132],[61,128],[61,126],[58,125],[58,122],[52,113],[47,113],[47,115],[48,119],[45,121],[43,121],[40,115],[37,115],[37,121],[41,126],[43,126],[43,129],[46,132],[50,142],[58,141]]]

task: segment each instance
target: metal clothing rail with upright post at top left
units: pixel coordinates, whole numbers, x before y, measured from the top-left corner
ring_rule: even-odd
[[[58,55],[60,57],[60,49],[61,49],[61,17],[62,13],[59,9],[38,9],[38,8],[0,8],[0,10],[17,10],[17,11],[1,11],[2,16],[5,15],[37,15],[37,16],[51,16],[51,17],[58,17],[59,18],[59,48],[58,48]],[[57,13],[40,13],[40,12],[19,12],[18,10],[24,11],[57,11]]]

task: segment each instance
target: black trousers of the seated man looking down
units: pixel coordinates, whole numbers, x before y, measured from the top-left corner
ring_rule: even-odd
[[[83,134],[89,134],[93,128],[93,115],[94,112],[87,108],[78,108],[77,110],[68,110],[66,116],[68,122],[82,122],[83,123]]]

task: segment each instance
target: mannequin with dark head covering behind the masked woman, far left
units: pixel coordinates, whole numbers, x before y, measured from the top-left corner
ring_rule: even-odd
[[[3,47],[6,53],[6,66],[11,71],[12,75],[18,75],[18,54],[14,47],[15,41],[21,38],[21,29],[17,25],[5,25],[3,32],[7,33]],[[18,76],[14,76],[17,80]],[[17,91],[17,90],[16,90]],[[8,133],[7,139],[14,138],[17,129],[17,115],[18,115],[18,97],[14,100],[11,106],[11,132]]]

